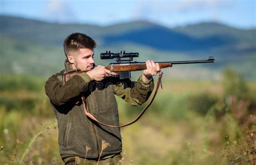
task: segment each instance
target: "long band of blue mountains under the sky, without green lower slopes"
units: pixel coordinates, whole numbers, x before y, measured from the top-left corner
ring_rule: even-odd
[[[211,51],[218,47],[247,44],[255,51],[256,30],[240,30],[218,23],[201,23],[183,28],[165,28],[148,22],[131,22],[112,26],[46,23],[38,20],[0,16],[0,31],[5,37],[38,44],[62,45],[72,32],[83,32],[108,47],[117,43],[134,43],[162,51]]]

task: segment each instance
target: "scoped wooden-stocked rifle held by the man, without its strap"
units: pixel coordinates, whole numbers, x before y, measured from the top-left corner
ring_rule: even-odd
[[[145,62],[133,61],[133,57],[139,57],[139,53],[125,53],[121,51],[120,53],[111,53],[106,51],[106,53],[100,53],[100,59],[113,59],[117,58],[117,63],[110,63],[105,68],[111,72],[118,72],[120,79],[131,78],[131,71],[142,71],[146,69]],[[129,59],[124,59],[129,58]],[[198,64],[198,63],[215,63],[214,57],[209,57],[207,60],[192,60],[192,61],[165,61],[165,62],[155,62],[159,64],[160,68],[172,67],[176,64]],[[78,71],[64,74],[64,82],[68,81],[73,75],[84,73],[86,71]]]

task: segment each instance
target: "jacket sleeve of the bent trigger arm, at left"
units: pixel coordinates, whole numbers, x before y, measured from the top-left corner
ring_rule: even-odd
[[[88,74],[82,73],[74,75],[63,85],[62,81],[58,79],[58,74],[55,74],[46,81],[45,93],[53,104],[60,106],[77,97],[89,86],[91,81],[92,79]]]

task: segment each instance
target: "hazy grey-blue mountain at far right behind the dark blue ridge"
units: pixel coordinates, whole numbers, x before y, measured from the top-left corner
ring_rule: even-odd
[[[256,51],[256,30],[241,30],[220,23],[208,22],[184,27],[176,27],[176,32],[184,33],[193,38],[207,38],[209,36],[219,36],[226,39],[226,51],[233,54],[249,53]],[[227,46],[229,45],[229,46]],[[223,51],[223,49],[222,49]]]

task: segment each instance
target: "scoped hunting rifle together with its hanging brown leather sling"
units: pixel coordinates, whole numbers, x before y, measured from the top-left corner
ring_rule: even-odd
[[[110,51],[106,51],[106,53],[100,53],[100,59],[113,59],[117,58],[117,63],[110,63],[108,66],[105,68],[107,70],[110,70],[111,72],[118,72],[118,76],[120,79],[125,79],[125,78],[131,78],[131,71],[141,71],[146,69],[146,63],[142,62],[132,62],[133,57],[139,57],[139,53],[125,53],[125,51],[121,51],[120,53],[111,53]],[[129,58],[129,59],[124,59],[124,58]],[[165,67],[172,67],[174,64],[197,64],[197,63],[214,63],[215,60],[213,57],[209,57],[207,60],[194,60],[194,61],[168,61],[168,62],[155,62],[159,64],[160,68],[165,68]],[[78,71],[78,72],[70,72],[70,73],[65,73],[63,75],[64,79],[64,84],[66,81],[71,79],[74,75],[84,73],[86,71]],[[152,104],[154,98],[156,97],[159,85],[161,85],[161,77],[163,75],[163,72],[159,72],[159,78],[157,81],[157,86],[156,90],[153,94],[152,99],[149,101],[149,103],[144,107],[142,112],[138,115],[136,119],[134,119],[132,122],[126,123],[125,125],[122,126],[112,126],[108,125],[106,123],[98,121],[95,116],[93,116],[91,113],[89,113],[86,109],[85,105],[85,97],[82,95],[82,102],[83,102],[83,109],[85,115],[90,118],[91,120],[99,123],[100,125],[108,126],[108,127],[125,127],[129,126],[132,123],[136,122],[139,120],[140,117],[146,112],[146,109],[149,108],[149,106]]]

